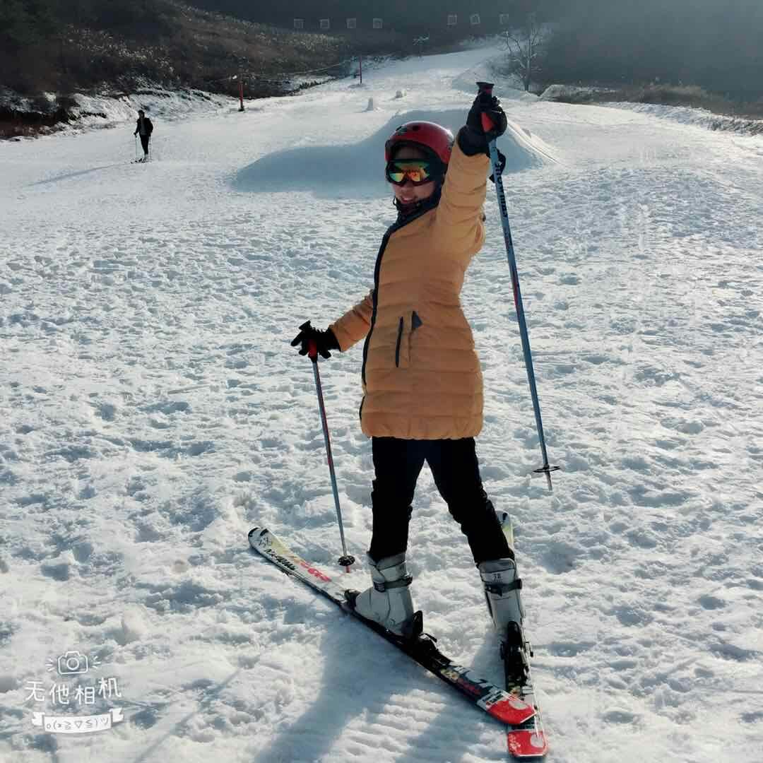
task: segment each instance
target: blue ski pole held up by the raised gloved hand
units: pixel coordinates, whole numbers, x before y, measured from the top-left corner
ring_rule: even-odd
[[[491,82],[478,82],[479,95],[493,95],[494,85]],[[482,114],[482,129],[488,134],[493,129],[493,123],[488,114]],[[522,339],[522,352],[524,353],[525,367],[527,369],[527,381],[530,383],[530,394],[533,396],[533,410],[535,411],[535,425],[538,430],[538,440],[540,443],[540,452],[543,457],[543,465],[540,468],[533,469],[534,474],[545,474],[546,481],[549,484],[549,491],[553,490],[551,484],[551,472],[559,470],[559,466],[549,466],[549,456],[546,452],[546,438],[543,436],[543,422],[540,417],[540,403],[538,400],[538,388],[535,384],[535,372],[533,371],[533,353],[530,352],[530,336],[527,334],[527,323],[524,317],[524,307],[522,305],[522,292],[520,291],[520,275],[517,272],[517,258],[514,256],[514,245],[511,241],[511,228],[509,227],[509,212],[506,204],[506,194],[504,193],[504,181],[501,177],[503,166],[498,157],[498,147],[495,138],[488,141],[490,149],[490,160],[493,165],[493,177],[495,180],[495,190],[498,195],[498,208],[501,210],[501,224],[504,228],[504,241],[506,243],[506,255],[509,260],[509,271],[511,273],[511,287],[514,295],[514,307],[517,309],[517,323],[520,324],[520,337]]]

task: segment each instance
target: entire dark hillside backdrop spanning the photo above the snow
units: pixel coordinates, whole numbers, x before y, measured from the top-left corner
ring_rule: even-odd
[[[369,0],[361,7],[352,0],[189,2],[3,0],[0,137],[76,118],[73,93],[160,87],[237,95],[243,70],[246,98],[283,95],[346,75],[359,54],[431,55],[509,31],[523,38],[522,27],[532,26],[529,11],[545,31],[528,76],[519,43],[508,37],[498,69],[523,76],[533,92],[565,85],[568,94],[578,92],[564,97],[586,103],[704,108],[745,131],[756,130],[752,121],[763,114],[757,0],[729,8],[715,0],[676,0],[671,8],[662,0],[628,8],[609,0],[518,0],[510,8],[499,0],[453,0],[447,11],[436,0]],[[303,31],[292,28],[295,19]],[[321,31],[324,22],[330,30]],[[426,44],[417,47],[417,38]]]

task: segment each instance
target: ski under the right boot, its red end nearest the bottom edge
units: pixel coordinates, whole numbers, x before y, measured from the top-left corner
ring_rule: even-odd
[[[504,530],[504,535],[509,542],[509,548],[514,552],[514,530],[511,517],[505,511],[497,512],[498,520]],[[506,742],[514,758],[542,758],[549,752],[549,742],[546,739],[546,731],[540,716],[540,708],[535,698],[533,677],[530,674],[530,657],[533,649],[530,642],[526,641],[522,630],[517,626],[513,636],[507,642],[504,654],[504,674],[506,679],[506,691],[535,709],[535,714],[523,723],[510,724],[506,732]]]

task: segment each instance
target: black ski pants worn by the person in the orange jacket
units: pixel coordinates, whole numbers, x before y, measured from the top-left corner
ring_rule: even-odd
[[[493,504],[482,488],[473,437],[373,437],[372,453],[375,480],[371,493],[373,535],[369,555],[375,562],[407,549],[411,504],[425,461],[449,512],[461,525],[475,564],[513,556]]]

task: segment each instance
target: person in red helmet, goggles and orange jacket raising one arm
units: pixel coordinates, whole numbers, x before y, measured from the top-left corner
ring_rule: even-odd
[[[485,134],[482,114],[494,130]],[[432,122],[398,127],[385,145],[398,220],[381,243],[374,288],[326,330],[310,321],[291,342],[324,358],[365,336],[362,431],[372,438],[375,479],[368,560],[373,586],[356,611],[412,636],[414,605],[405,555],[417,478],[426,461],[465,534],[501,641],[521,625],[513,552],[482,487],[475,436],[482,428],[482,375],[462,312],[465,270],[485,240],[488,138],[504,133],[497,98],[479,95],[458,140]]]

